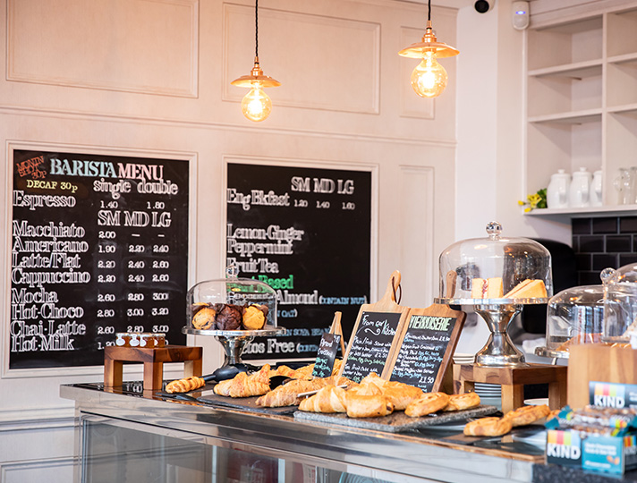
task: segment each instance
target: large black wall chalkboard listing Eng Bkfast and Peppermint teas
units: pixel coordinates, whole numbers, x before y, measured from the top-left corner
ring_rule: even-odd
[[[288,329],[242,359],[315,358],[336,311],[351,333],[369,302],[371,173],[229,163],[226,210],[226,263],[276,290]]]

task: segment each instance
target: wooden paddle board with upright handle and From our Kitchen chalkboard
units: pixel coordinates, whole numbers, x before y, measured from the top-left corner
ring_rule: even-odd
[[[371,372],[387,377],[386,362],[393,359],[395,340],[403,333],[408,307],[395,302],[395,289],[400,284],[400,273],[395,271],[383,298],[373,304],[361,306],[352,331],[352,338],[344,357],[341,376],[354,382]]]

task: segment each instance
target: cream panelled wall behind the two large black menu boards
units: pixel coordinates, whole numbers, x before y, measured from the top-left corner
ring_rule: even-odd
[[[58,387],[102,377],[101,368],[8,369],[13,148],[191,160],[190,284],[222,273],[228,158],[369,169],[372,298],[395,269],[403,303],[426,306],[436,294],[437,254],[454,241],[457,75],[455,59],[443,61],[445,95],[434,102],[412,93],[414,61],[396,52],[422,35],[423,5],[260,2],[261,65],[283,83],[260,124],[242,117],[244,91],[229,84],[251,69],[252,8],[248,0],[0,3],[1,481],[71,479],[72,402]],[[453,45],[456,11],[433,14],[438,38]],[[335,276],[355,270],[334,267]],[[206,347],[205,369],[215,369],[217,343],[195,343]]]

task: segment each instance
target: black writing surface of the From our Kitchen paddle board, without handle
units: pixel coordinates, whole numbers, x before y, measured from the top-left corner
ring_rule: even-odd
[[[356,333],[350,340],[341,376],[354,382],[361,382],[371,372],[380,376],[385,369],[401,316],[400,312],[362,312]]]

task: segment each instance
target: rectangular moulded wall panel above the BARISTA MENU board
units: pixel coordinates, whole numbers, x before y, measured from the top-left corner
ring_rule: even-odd
[[[198,0],[8,0],[7,78],[197,96]]]

